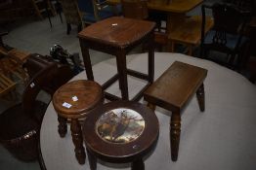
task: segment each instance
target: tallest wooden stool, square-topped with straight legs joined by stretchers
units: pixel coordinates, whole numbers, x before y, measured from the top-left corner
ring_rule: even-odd
[[[153,82],[154,51],[153,28],[154,22],[124,17],[110,17],[84,28],[79,34],[80,46],[83,54],[87,78],[94,80],[89,49],[104,51],[116,56],[117,74],[107,81],[103,89],[107,89],[115,81],[119,80],[122,99],[128,100],[127,74],[149,82],[132,100],[138,101],[143,91]],[[139,73],[126,67],[126,54],[141,43],[149,46],[149,74]],[[117,96],[105,92],[110,100],[120,99]]]

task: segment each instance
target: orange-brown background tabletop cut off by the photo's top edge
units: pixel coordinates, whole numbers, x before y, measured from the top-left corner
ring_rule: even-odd
[[[107,0],[107,3],[116,5],[120,0]],[[200,3],[202,0],[171,0],[170,3],[166,3],[166,0],[149,0],[148,8],[162,12],[187,13]]]

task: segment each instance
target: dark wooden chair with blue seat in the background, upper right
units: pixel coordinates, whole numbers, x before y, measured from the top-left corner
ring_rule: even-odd
[[[214,25],[213,29],[205,33],[205,9],[212,11]],[[246,38],[243,37],[246,14],[235,8],[234,5],[215,3],[212,6],[202,5],[202,27],[200,56],[208,58],[210,51],[219,51],[227,55],[226,61],[214,60],[222,65],[235,68],[236,59],[239,57]],[[221,54],[216,54],[223,57]]]

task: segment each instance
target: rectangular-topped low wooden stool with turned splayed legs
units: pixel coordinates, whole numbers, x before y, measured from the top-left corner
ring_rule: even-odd
[[[207,70],[175,61],[144,93],[152,110],[155,105],[172,112],[170,119],[170,142],[172,160],[178,158],[181,112],[196,92],[200,111],[204,111],[203,80]]]

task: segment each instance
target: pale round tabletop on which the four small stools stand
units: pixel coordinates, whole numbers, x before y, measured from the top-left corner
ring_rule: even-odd
[[[99,54],[99,57],[102,55]],[[182,111],[179,160],[170,160],[170,116],[162,108],[155,108],[159,120],[159,139],[150,156],[144,157],[147,170],[251,170],[256,159],[256,85],[240,74],[214,62],[192,56],[155,52],[154,75],[159,78],[175,61],[181,61],[208,70],[204,81],[205,111],[198,109],[196,95]],[[127,56],[127,67],[148,73],[148,53]],[[98,57],[98,55],[97,55]],[[116,74],[116,58],[107,59],[93,66],[95,81],[103,85]],[[104,71],[103,71],[104,70]],[[85,79],[81,72],[73,80]],[[130,96],[135,96],[145,82],[129,79]],[[121,96],[118,83],[109,92]],[[145,102],[145,101],[141,101]],[[69,124],[67,124],[69,126]],[[48,170],[89,170],[89,163],[77,163],[73,156],[71,132],[64,138],[58,134],[58,117],[50,103],[42,122],[41,151]],[[88,160],[88,159],[87,159]],[[239,161],[237,161],[239,160]],[[128,164],[111,164],[97,161],[97,170],[129,170]]]

